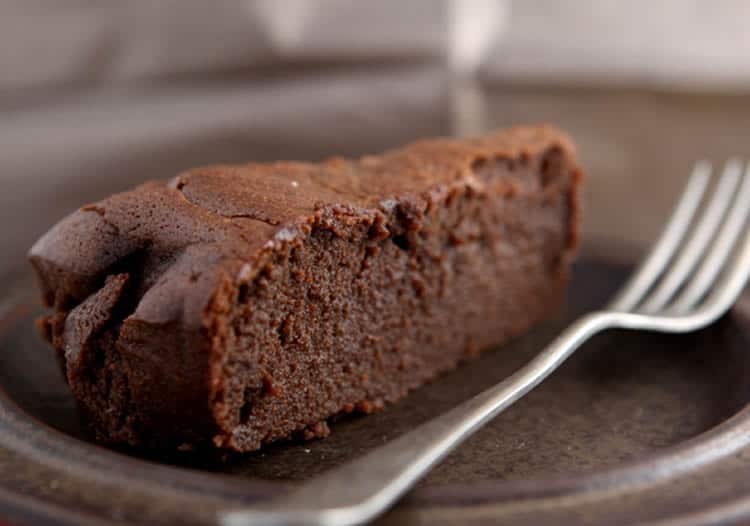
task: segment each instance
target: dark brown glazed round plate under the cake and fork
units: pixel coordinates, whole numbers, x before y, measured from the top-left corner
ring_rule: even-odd
[[[598,245],[601,247],[601,245]],[[611,251],[610,251],[611,252]],[[381,444],[507,376],[627,276],[594,245],[567,306],[529,335],[326,440],[248,455],[146,456],[92,443],[27,278],[2,283],[0,518],[216,524],[222,511]],[[599,255],[597,256],[596,253]],[[750,520],[750,298],[687,336],[610,332],[438,466],[383,523],[710,524]]]

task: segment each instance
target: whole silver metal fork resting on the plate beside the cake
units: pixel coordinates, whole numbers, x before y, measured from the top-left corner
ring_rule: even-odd
[[[728,161],[715,189],[707,192],[711,173],[709,163],[695,165],[659,239],[609,304],[577,319],[524,367],[442,416],[287,495],[223,513],[221,523],[366,523],[593,335],[613,328],[684,333],[716,321],[750,278],[750,166],[743,169],[739,160]]]

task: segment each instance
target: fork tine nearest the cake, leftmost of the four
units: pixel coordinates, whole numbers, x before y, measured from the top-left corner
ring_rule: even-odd
[[[664,267],[672,259],[683,237],[685,237],[691,219],[706,191],[710,176],[711,165],[708,162],[700,161],[695,164],[667,226],[664,227],[659,239],[638,266],[638,269],[609,303],[608,309],[630,310],[648,292],[661,275]]]

